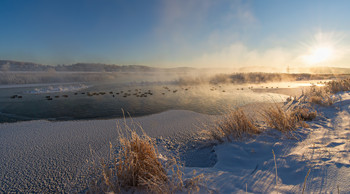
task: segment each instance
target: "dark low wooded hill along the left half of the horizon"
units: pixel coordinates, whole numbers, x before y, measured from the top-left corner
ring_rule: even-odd
[[[194,68],[156,68],[143,65],[112,65],[101,63],[76,63],[72,65],[42,65],[32,62],[0,60],[0,71],[58,71],[58,72],[180,72]]]

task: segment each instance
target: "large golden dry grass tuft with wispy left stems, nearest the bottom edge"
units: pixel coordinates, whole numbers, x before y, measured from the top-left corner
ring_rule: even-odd
[[[131,138],[122,137],[119,141],[119,152],[111,154],[109,161],[101,160],[98,170],[101,175],[91,183],[91,193],[120,193],[130,189],[159,193],[164,190],[167,172],[150,137],[132,132]]]

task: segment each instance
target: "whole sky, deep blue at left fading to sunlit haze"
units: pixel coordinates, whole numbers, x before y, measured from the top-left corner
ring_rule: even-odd
[[[1,0],[0,59],[350,67],[347,0]]]

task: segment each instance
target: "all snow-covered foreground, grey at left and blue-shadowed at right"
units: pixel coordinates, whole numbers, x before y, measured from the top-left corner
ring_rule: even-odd
[[[301,193],[310,170],[305,193],[350,193],[350,93],[338,96],[332,106],[317,108],[321,115],[298,139],[271,129],[241,142],[182,150],[185,177],[193,170],[204,174],[200,193]],[[173,110],[134,120],[151,137],[181,144],[211,119]],[[108,155],[108,142],[118,138],[117,121],[0,124],[0,193],[83,191],[90,151]]]

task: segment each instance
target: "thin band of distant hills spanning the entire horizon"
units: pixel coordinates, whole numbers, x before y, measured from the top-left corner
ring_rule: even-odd
[[[31,71],[31,72],[217,72],[220,68],[196,69],[192,67],[176,67],[176,68],[157,68],[143,65],[113,65],[102,63],[76,63],[71,65],[43,65],[32,62],[21,62],[12,60],[0,60],[0,71]],[[286,67],[272,66],[247,66],[237,69],[224,70],[221,73],[227,72],[265,72],[265,73],[287,73]],[[310,67],[310,68],[290,68],[290,73],[316,73],[316,74],[350,74],[350,68],[340,67]]]

